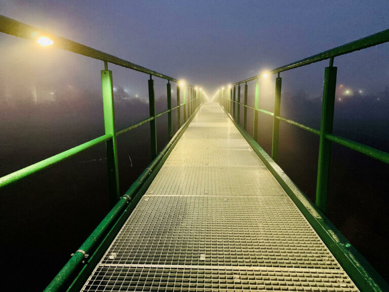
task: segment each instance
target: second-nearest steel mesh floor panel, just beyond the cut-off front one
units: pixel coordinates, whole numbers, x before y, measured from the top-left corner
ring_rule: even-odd
[[[144,196],[102,264],[339,269],[287,197]]]

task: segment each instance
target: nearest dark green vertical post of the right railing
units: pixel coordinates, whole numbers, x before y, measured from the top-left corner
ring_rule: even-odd
[[[337,67],[333,67],[332,64],[333,58],[330,60],[330,66],[325,68],[324,75],[322,120],[320,124],[318,179],[316,185],[316,205],[323,212],[326,212],[327,207],[327,188],[331,158],[331,141],[326,139],[326,134],[332,133],[336,89]]]

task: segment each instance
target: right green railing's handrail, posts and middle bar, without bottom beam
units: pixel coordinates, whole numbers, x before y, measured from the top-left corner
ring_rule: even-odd
[[[334,116],[334,102],[335,102],[335,87],[336,87],[336,72],[337,67],[333,66],[334,58],[340,55],[352,53],[358,50],[373,47],[379,44],[389,42],[389,29],[367,36],[366,38],[345,44],[343,46],[336,47],[334,49],[322,52],[320,54],[293,62],[291,64],[271,70],[269,74],[277,74],[276,78],[276,90],[275,90],[275,103],[274,113],[265,111],[259,108],[259,78],[260,75],[236,82],[232,84],[230,89],[230,97],[224,97],[224,91],[219,92],[219,103],[226,108],[227,112],[231,114],[238,124],[240,121],[240,106],[244,106],[243,116],[243,128],[246,130],[247,126],[247,108],[254,111],[254,124],[253,124],[253,138],[257,140],[258,132],[258,113],[273,117],[273,137],[271,143],[271,158],[277,162],[278,160],[278,143],[279,143],[279,129],[280,121],[296,126],[300,129],[306,130],[310,133],[319,135],[319,164],[317,173],[317,188],[316,188],[316,205],[323,211],[326,212],[327,208],[327,186],[329,176],[329,165],[331,157],[331,142],[343,145],[349,149],[358,151],[374,159],[389,163],[389,153],[374,149],[368,145],[364,145],[352,140],[348,140],[343,137],[335,136],[332,134],[332,124]],[[324,73],[324,88],[323,88],[323,103],[322,103],[322,117],[320,129],[314,129],[298,122],[280,116],[280,105],[281,105],[281,85],[282,78],[280,73],[297,67],[305,66],[315,62],[329,59],[329,66],[325,68]],[[247,104],[247,82],[255,80],[255,95],[254,95],[254,106]],[[244,103],[240,102],[240,90],[241,84],[245,84],[245,99]],[[235,98],[235,88],[238,85],[238,101]],[[232,93],[233,92],[233,93]],[[235,107],[238,107],[238,115],[236,117]]]

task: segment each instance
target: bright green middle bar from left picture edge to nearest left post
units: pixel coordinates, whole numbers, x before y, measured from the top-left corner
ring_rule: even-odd
[[[98,137],[96,139],[90,140],[86,143],[83,143],[81,145],[73,147],[69,150],[61,152],[57,155],[54,155],[54,156],[49,157],[47,159],[44,159],[40,162],[34,163],[30,166],[27,166],[25,168],[22,168],[20,170],[17,170],[15,172],[7,174],[3,177],[0,177],[0,188],[11,185],[14,182],[16,182],[16,181],[18,181],[18,180],[20,180],[28,175],[31,175],[31,174],[34,174],[38,171],[49,168],[49,167],[57,164],[58,162],[61,162],[65,159],[68,159],[76,154],[79,154],[79,153],[85,151],[85,150],[88,150],[88,149],[90,149],[90,148],[92,148],[100,143],[108,141],[109,139],[112,139],[111,135],[108,135],[108,134],[103,135],[103,136]]]

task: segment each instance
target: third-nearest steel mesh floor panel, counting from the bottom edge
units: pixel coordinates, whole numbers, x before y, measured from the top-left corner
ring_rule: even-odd
[[[183,181],[186,183],[183,184]],[[242,184],[242,181],[245,183]],[[146,195],[287,197],[265,166],[165,165],[152,181]]]

